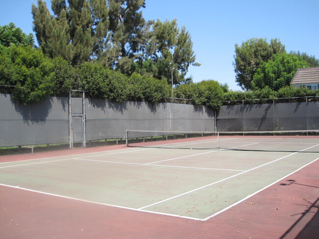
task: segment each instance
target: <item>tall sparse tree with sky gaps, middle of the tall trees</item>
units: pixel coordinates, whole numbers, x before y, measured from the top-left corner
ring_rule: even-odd
[[[100,57],[112,69],[132,74],[132,63],[142,56],[151,22],[143,18],[145,0],[109,0],[109,50]]]

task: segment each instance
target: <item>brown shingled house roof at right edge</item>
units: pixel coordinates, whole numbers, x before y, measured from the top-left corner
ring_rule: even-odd
[[[295,84],[319,84],[319,67],[300,68],[292,78]]]

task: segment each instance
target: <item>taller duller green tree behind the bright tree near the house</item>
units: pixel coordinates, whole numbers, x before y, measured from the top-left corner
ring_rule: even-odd
[[[271,39],[270,44],[263,38],[249,39],[240,46],[235,44],[233,65],[238,85],[243,90],[251,90],[254,74],[261,62],[267,62],[273,54],[282,52],[286,52],[285,46],[277,39]]]

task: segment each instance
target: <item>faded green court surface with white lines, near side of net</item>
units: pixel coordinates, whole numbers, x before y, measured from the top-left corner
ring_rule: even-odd
[[[318,153],[126,148],[0,164],[0,184],[206,220],[319,158]]]

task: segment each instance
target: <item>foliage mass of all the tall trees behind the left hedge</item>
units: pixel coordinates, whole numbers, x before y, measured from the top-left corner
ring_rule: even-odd
[[[92,60],[131,75],[191,82],[190,65],[198,66],[190,34],[176,20],[145,21],[145,0],[44,0],[32,4],[33,29],[39,47],[51,58],[60,56],[80,65]],[[151,68],[143,68],[143,63]],[[151,62],[150,62],[151,61]],[[137,65],[135,64],[136,62]],[[136,69],[137,68],[137,69]],[[139,71],[141,70],[141,71]]]

